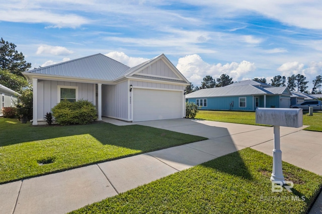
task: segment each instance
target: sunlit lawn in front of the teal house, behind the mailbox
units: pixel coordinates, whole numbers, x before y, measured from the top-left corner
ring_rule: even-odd
[[[313,116],[307,115],[308,113],[303,113],[303,125],[309,125],[304,130],[322,131],[322,112],[314,112]],[[196,119],[258,125],[255,123],[255,112],[202,110],[197,113]]]

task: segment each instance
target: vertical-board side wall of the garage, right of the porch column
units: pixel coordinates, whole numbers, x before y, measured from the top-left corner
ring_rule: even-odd
[[[102,86],[102,116],[129,120],[128,81]]]

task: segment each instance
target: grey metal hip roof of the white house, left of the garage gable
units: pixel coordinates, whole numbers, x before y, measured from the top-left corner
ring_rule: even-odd
[[[36,73],[63,77],[114,80],[129,69],[130,67],[103,54],[95,54],[43,68],[33,69],[24,73],[27,75],[28,73]]]

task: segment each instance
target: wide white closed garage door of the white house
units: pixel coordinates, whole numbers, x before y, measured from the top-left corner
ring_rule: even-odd
[[[133,121],[183,117],[181,91],[133,89]]]

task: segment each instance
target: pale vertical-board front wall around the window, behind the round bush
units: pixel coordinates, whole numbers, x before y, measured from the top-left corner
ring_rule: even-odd
[[[44,120],[47,112],[58,103],[58,86],[77,86],[78,100],[84,99],[95,104],[95,84],[54,80],[38,80],[37,83],[37,120]]]

